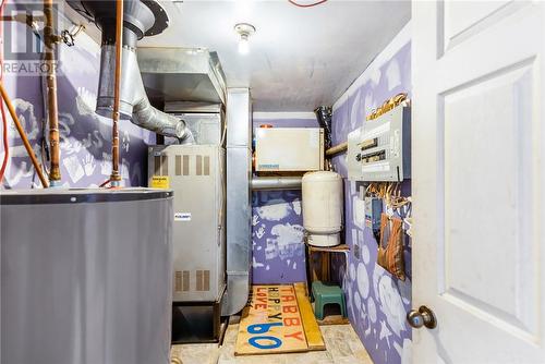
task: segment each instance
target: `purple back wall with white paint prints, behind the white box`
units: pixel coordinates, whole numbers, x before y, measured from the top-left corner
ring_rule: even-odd
[[[254,128],[317,128],[315,119],[258,119]],[[306,279],[301,191],[252,194],[252,279],[255,284]]]

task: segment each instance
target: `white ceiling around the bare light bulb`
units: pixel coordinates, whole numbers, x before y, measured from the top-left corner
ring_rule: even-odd
[[[314,0],[299,0],[308,3]],[[409,1],[165,1],[170,26],[143,46],[217,51],[229,87],[251,87],[254,111],[332,105],[411,17]],[[250,53],[234,24],[251,23]]]

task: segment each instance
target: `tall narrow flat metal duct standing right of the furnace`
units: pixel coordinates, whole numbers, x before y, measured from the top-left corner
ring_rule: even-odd
[[[227,292],[221,315],[240,312],[250,293],[252,110],[249,88],[227,93]]]

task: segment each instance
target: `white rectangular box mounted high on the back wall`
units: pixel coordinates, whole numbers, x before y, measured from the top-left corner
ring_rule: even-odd
[[[324,130],[319,128],[257,128],[255,171],[295,172],[324,169]]]

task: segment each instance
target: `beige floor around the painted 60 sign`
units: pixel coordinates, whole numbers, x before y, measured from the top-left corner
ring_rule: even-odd
[[[221,348],[210,343],[173,345],[172,364],[373,364],[352,326],[320,326],[320,330],[327,351],[234,356],[239,325],[230,324]]]

